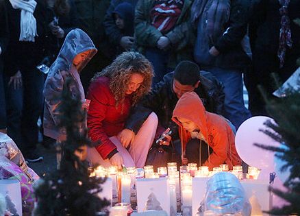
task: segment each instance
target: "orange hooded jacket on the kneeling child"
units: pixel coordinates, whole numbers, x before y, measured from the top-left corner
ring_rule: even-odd
[[[173,111],[172,120],[182,128],[182,123],[178,121],[178,118],[188,119],[196,123],[203,139],[212,148],[212,154],[210,154],[209,160],[205,161],[204,166],[212,169],[226,163],[229,165],[229,169],[232,169],[232,166],[242,164],[242,160],[236,152],[234,132],[232,132],[229,124],[223,117],[205,111],[201,99],[195,92],[182,95]],[[186,143],[190,139],[190,133],[182,128],[180,136],[184,141],[185,149]]]

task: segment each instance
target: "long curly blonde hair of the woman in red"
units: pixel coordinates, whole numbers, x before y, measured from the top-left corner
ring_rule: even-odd
[[[153,67],[151,62],[142,54],[135,51],[121,53],[112,64],[96,73],[91,82],[96,80],[97,77],[110,77],[110,91],[112,91],[114,99],[116,99],[116,106],[118,106],[125,99],[125,92],[134,73],[138,73],[144,78],[140,87],[132,93],[132,105],[134,105],[140,97],[151,90]]]

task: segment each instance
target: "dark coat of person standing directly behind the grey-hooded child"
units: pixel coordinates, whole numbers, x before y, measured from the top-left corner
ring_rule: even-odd
[[[47,7],[47,25],[51,23],[54,19],[54,17],[58,18],[58,25],[64,30],[64,38],[70,32],[72,29],[75,29],[78,26],[78,17],[77,17],[77,10],[76,6],[73,0],[68,0],[68,3],[70,5],[70,11],[68,14],[64,16],[59,16],[58,14],[55,14],[55,11],[53,8]],[[48,26],[47,27],[47,51],[48,56],[51,64],[55,60],[56,56],[58,55],[58,52],[60,51],[60,47],[62,47],[62,44],[64,43],[64,38],[56,38],[51,33],[51,29]]]

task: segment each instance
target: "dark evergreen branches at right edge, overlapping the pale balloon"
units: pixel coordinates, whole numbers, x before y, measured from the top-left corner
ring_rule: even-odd
[[[287,192],[272,189],[275,195],[288,202],[282,208],[273,208],[272,215],[300,215],[300,93],[289,91],[288,97],[269,99],[266,110],[276,123],[267,121],[268,128],[264,133],[285,147],[271,147],[263,144],[255,144],[267,150],[275,152],[275,156],[286,163],[281,171],[290,169],[290,176],[284,182]]]

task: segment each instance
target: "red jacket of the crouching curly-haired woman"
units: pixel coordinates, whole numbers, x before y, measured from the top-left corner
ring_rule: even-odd
[[[116,136],[123,130],[125,121],[129,116],[132,106],[130,97],[125,97],[123,104],[118,104],[110,91],[110,79],[98,77],[90,84],[87,98],[90,99],[88,109],[88,135],[92,141],[101,141],[96,149],[103,159],[116,149],[116,145],[110,141],[110,136]]]

